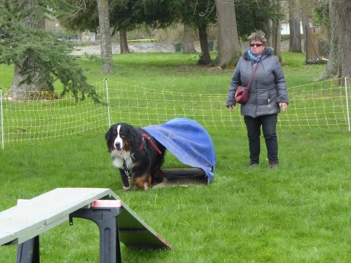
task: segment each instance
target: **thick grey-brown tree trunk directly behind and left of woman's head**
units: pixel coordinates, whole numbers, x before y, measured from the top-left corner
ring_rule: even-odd
[[[233,0],[215,0],[218,27],[217,67],[234,67],[241,54]]]

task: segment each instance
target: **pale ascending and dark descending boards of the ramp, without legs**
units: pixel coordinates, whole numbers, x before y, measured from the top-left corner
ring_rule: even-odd
[[[121,202],[117,217],[119,240],[128,248],[172,248],[111,189],[57,188],[0,213],[0,245],[18,245],[69,220],[81,208],[90,208],[101,198]]]

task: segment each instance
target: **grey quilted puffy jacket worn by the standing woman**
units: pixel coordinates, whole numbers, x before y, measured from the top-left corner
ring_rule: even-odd
[[[241,104],[241,115],[253,118],[276,114],[280,112],[279,103],[289,104],[286,81],[277,56],[272,55],[273,48],[267,47],[258,62],[256,73],[251,81],[249,100]],[[249,54],[244,51],[234,70],[228,90],[226,106],[235,105],[234,95],[237,86],[247,86],[256,63],[249,60]]]

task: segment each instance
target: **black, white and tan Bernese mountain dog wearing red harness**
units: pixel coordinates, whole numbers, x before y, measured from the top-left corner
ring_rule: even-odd
[[[166,148],[145,130],[116,123],[107,131],[105,139],[125,190],[131,188],[131,183],[146,190],[164,180],[161,165]]]

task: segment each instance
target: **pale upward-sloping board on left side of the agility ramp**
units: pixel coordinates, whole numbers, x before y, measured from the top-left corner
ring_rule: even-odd
[[[68,220],[68,215],[111,196],[110,189],[58,188],[0,213],[0,245],[22,243]]]

